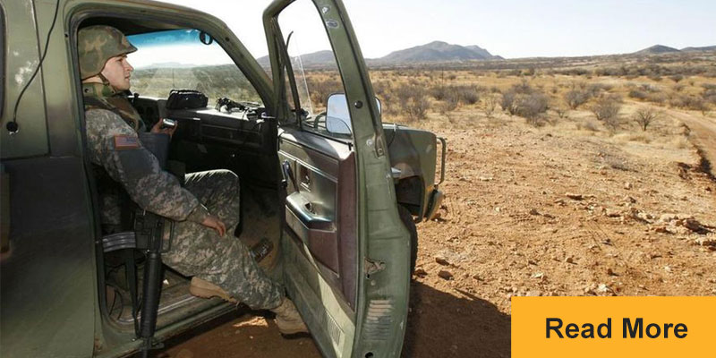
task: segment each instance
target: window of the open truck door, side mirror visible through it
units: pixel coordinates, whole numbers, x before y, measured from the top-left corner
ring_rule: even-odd
[[[297,0],[278,15],[278,25],[288,42],[288,55],[305,114],[303,128],[349,138],[351,119],[345,96],[340,95],[345,93],[344,83],[319,10],[310,0]],[[292,102],[290,96],[288,93]]]

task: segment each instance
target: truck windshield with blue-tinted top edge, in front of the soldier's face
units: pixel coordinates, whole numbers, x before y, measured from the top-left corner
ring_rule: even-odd
[[[134,66],[132,91],[167,98],[171,90],[199,90],[216,106],[218,98],[256,102],[251,82],[213,38],[200,30],[168,30],[127,37],[137,47],[128,56]]]

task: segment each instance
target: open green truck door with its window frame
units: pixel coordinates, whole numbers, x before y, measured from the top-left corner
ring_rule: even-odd
[[[345,7],[338,0],[276,0],[263,21],[286,187],[281,250],[288,293],[325,356],[398,356],[410,239],[398,216],[379,106]],[[315,47],[320,37],[325,48]],[[311,94],[311,76],[320,73],[345,93],[349,118],[341,122],[350,128],[330,128],[331,108]]]

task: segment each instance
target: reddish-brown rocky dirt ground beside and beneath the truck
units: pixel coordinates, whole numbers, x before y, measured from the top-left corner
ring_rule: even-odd
[[[509,356],[515,295],[716,294],[716,119],[669,109],[609,133],[581,128],[589,115],[413,124],[447,138],[447,180],[440,217],[418,225],[405,357]],[[160,356],[320,356],[251,315],[183,339]]]

